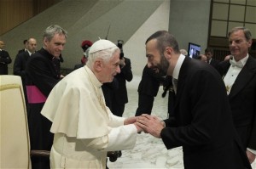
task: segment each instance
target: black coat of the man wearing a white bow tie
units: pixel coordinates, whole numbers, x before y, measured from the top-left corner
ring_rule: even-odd
[[[221,76],[229,68],[229,60],[218,65]],[[236,130],[244,148],[256,149],[256,59],[253,57],[249,56],[246,65],[236,77],[229,99]]]

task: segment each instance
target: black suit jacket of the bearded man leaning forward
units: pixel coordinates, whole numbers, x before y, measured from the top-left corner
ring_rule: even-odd
[[[184,168],[251,168],[233,125],[224,82],[212,66],[184,59],[174,115],[160,136],[167,149],[183,146]]]

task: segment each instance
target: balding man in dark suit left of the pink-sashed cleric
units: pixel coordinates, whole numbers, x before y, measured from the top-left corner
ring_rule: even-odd
[[[14,63],[14,75],[20,76],[23,85],[23,91],[26,100],[26,108],[28,111],[27,97],[26,97],[26,62],[29,59],[31,54],[34,54],[37,48],[37,40],[34,38],[29,38],[27,41],[26,51],[23,51],[16,55],[15,63]]]

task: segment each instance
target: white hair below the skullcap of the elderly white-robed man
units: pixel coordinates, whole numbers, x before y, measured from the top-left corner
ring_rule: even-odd
[[[107,63],[116,52],[120,52],[120,49],[118,47],[108,48],[89,54],[86,65],[90,67],[90,69],[92,69],[92,65],[94,64],[96,59],[102,59],[105,63]]]

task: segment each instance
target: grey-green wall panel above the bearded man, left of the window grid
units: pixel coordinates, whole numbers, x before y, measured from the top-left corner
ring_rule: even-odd
[[[179,48],[188,50],[189,42],[207,48],[211,0],[171,0],[169,31]]]

